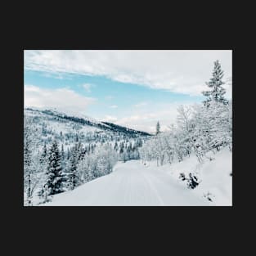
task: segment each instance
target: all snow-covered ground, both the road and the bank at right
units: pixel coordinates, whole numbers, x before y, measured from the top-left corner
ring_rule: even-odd
[[[138,160],[119,162],[113,173],[54,195],[52,202],[41,205],[231,205],[231,152],[224,149],[214,158],[199,165],[191,156],[161,167]],[[191,190],[178,175],[194,173],[195,168],[201,182]],[[212,201],[204,196],[208,193]]]

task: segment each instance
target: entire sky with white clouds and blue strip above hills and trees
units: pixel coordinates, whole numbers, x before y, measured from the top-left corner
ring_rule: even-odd
[[[25,50],[25,107],[56,108],[146,132],[204,100],[213,62],[231,98],[231,50]]]

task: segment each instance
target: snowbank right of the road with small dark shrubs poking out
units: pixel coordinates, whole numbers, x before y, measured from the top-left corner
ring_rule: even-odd
[[[179,173],[198,173],[200,185],[192,192],[197,195],[210,193],[213,205],[232,205],[232,153],[228,147],[220,150],[215,155],[208,154],[213,160],[204,159],[204,163],[199,164],[195,155],[176,162],[171,165],[164,165],[162,168],[178,179]],[[184,183],[184,182],[183,182]],[[184,183],[185,184],[185,183]]]

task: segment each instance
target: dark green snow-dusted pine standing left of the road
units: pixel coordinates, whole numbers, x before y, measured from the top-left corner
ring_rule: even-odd
[[[62,174],[61,155],[56,141],[53,141],[49,152],[47,166],[47,182],[46,187],[48,195],[55,195],[63,191],[63,182],[65,177]]]

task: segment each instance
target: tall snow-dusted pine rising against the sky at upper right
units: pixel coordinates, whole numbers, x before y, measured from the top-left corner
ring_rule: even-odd
[[[227,99],[224,98],[224,94],[226,90],[222,88],[222,78],[223,78],[223,71],[219,61],[214,62],[213,68],[213,77],[210,79],[209,82],[206,82],[206,85],[211,89],[209,91],[202,92],[207,99],[204,102],[204,106],[209,107],[210,101],[221,102],[224,105],[228,104]]]

